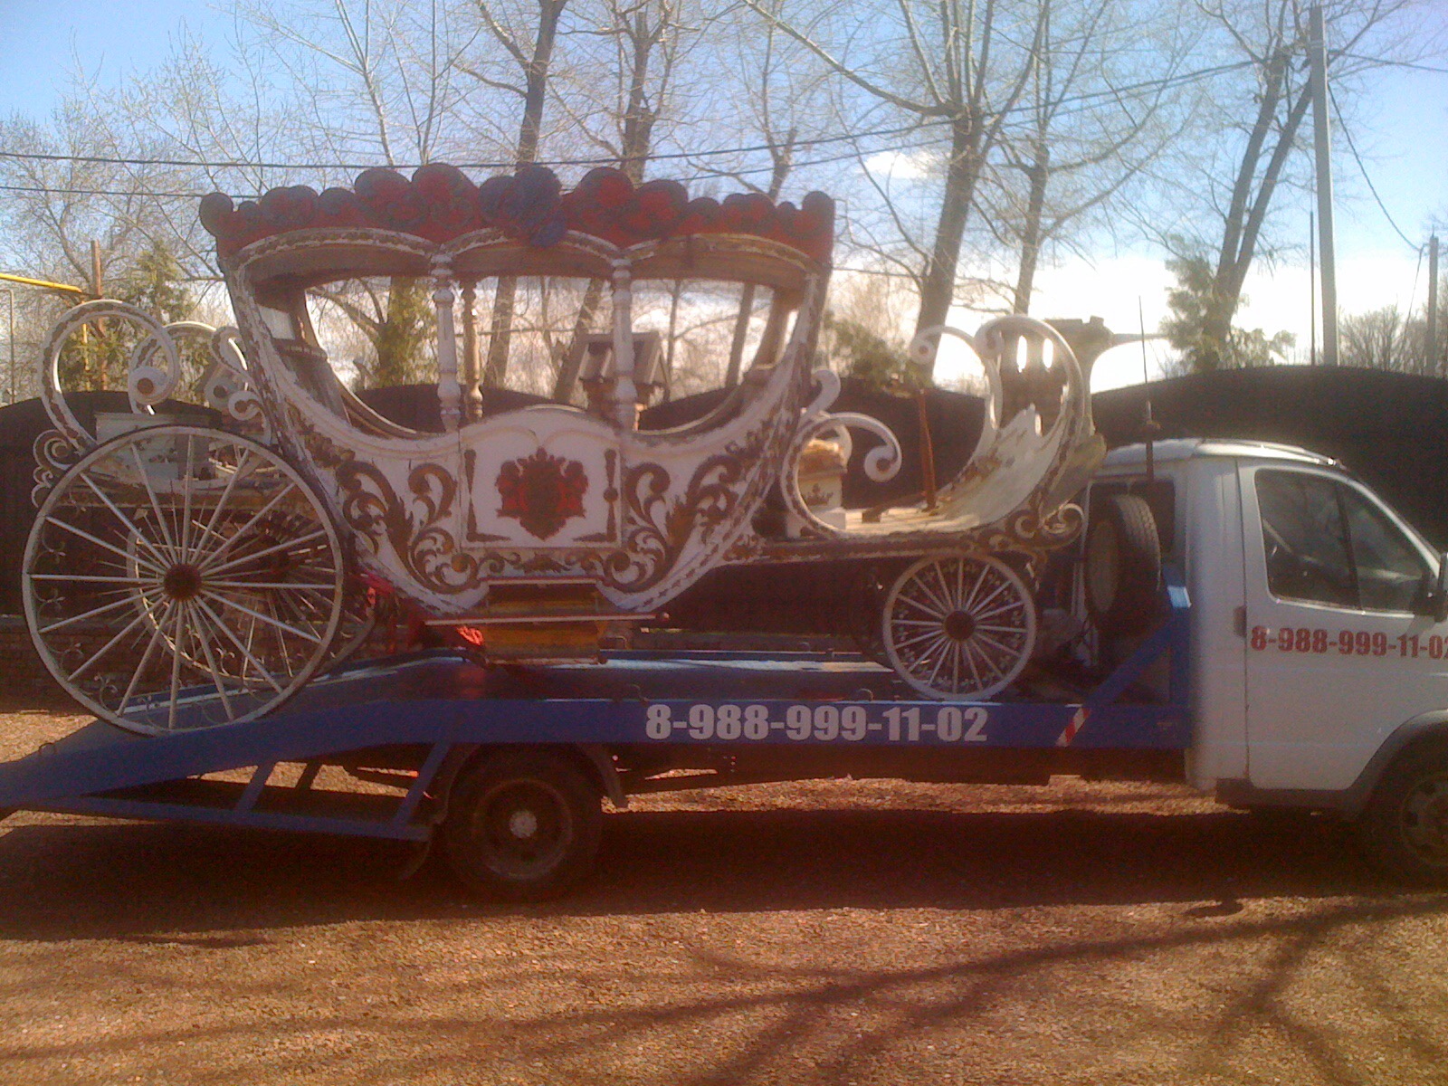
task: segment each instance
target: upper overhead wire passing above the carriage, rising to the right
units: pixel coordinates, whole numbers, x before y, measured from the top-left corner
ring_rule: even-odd
[[[1218,64],[1211,68],[1199,68],[1190,72],[1182,72],[1179,75],[1166,75],[1157,80],[1142,80],[1141,83],[1131,83],[1121,87],[1111,87],[1099,91],[1086,91],[1082,94],[1073,94],[1056,101],[1056,106],[1074,106],[1080,103],[1095,101],[1098,98],[1121,98],[1125,94],[1134,94],[1142,90],[1164,90],[1167,87],[1182,85],[1187,83],[1196,83],[1199,80],[1211,78],[1213,75],[1222,75],[1229,71],[1237,71],[1239,68],[1251,67],[1255,61],[1235,61],[1232,64]],[[1002,110],[989,114],[990,117],[999,117],[1009,113],[1024,113],[1027,110],[1035,109],[1031,104],[1018,104],[1011,110]],[[925,120],[911,122],[909,125],[899,125],[886,129],[872,129],[867,132],[849,132],[838,136],[817,136],[814,139],[798,139],[792,143],[795,148],[809,148],[809,146],[824,146],[830,143],[844,143],[860,139],[873,139],[876,136],[901,136],[908,132],[918,132],[922,127],[933,127],[937,125],[951,123],[950,117],[934,117]],[[721,155],[749,155],[760,153],[766,151],[773,151],[778,143],[754,143],[747,146],[734,148],[715,148],[712,151],[672,151],[662,153],[650,153],[646,156],[650,162],[663,162],[673,159],[696,159],[696,158],[715,158]],[[290,171],[326,171],[326,169],[371,169],[374,167],[391,168],[391,169],[417,169],[418,164],[401,164],[391,165],[381,162],[236,162],[236,161],[220,161],[211,162],[206,159],[180,159],[180,158],[120,158],[109,155],[61,155],[54,152],[41,151],[0,151],[0,158],[32,161],[32,162],[80,162],[87,165],[116,165],[116,167],[190,167],[198,169],[290,169]],[[546,167],[602,167],[614,165],[620,162],[617,156],[610,158],[560,158],[539,162],[539,165]],[[507,162],[459,162],[456,164],[459,169],[513,169],[518,164],[515,161]],[[59,190],[56,190],[59,191]],[[190,195],[190,194],[180,194]]]

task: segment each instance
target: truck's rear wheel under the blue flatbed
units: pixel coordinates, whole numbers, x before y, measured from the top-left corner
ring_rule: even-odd
[[[443,844],[447,863],[478,893],[546,901],[594,867],[602,795],[571,760],[549,752],[505,752],[455,786]]]

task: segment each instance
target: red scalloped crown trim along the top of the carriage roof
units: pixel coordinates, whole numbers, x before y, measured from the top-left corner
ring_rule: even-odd
[[[556,245],[569,230],[618,246],[691,235],[749,235],[820,262],[830,259],[834,242],[834,200],[824,193],[809,193],[798,207],[759,193],[691,200],[678,181],[634,185],[627,174],[608,167],[589,171],[569,191],[546,167],[521,167],[481,185],[440,162],[420,167],[410,181],[394,169],[375,168],[359,174],[352,188],[272,188],[240,206],[211,193],[200,211],[222,255],[262,237],[317,227],[397,230],[436,243],[494,227],[536,246]]]

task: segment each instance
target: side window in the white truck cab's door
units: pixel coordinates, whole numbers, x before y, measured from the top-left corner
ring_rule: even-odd
[[[1267,588],[1365,611],[1410,611],[1428,566],[1367,498],[1306,472],[1257,472]]]

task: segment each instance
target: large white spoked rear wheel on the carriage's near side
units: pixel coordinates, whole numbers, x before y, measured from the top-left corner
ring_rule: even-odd
[[[329,659],[345,568],[277,453],[195,426],[93,449],[51,491],[22,591],[45,666],[96,715],[161,734],[252,720]]]

